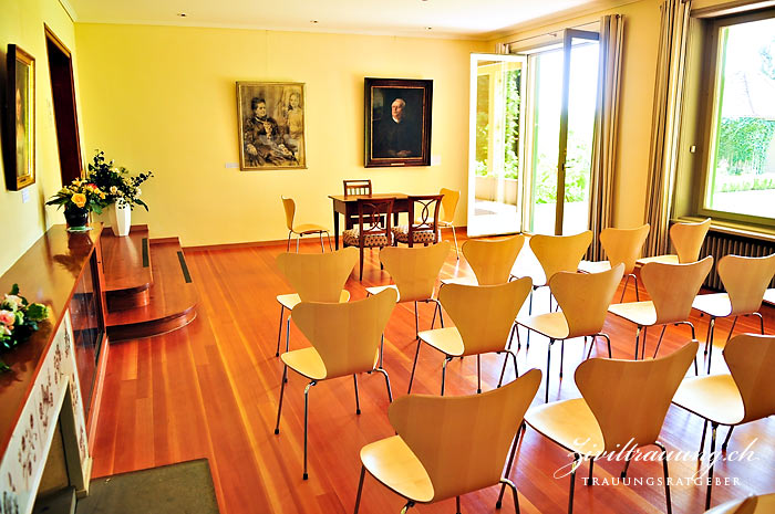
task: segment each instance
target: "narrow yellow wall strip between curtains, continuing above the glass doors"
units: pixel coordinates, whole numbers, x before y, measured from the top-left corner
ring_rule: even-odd
[[[651,107],[654,94],[660,30],[660,2],[642,0],[585,17],[557,20],[490,42],[512,42],[600,19],[603,14],[624,15],[619,146],[613,193],[613,223],[637,227],[643,223],[648,196],[651,138]],[[572,86],[572,85],[571,85]]]

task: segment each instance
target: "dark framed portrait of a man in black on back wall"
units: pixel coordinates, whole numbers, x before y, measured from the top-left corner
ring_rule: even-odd
[[[365,78],[365,166],[430,166],[433,81]]]

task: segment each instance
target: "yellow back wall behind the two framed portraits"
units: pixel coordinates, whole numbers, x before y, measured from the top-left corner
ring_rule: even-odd
[[[465,224],[468,54],[484,43],[372,35],[76,24],[84,153],[95,148],[134,172],[152,237],[184,245],[285,239],[280,195],[299,220],[332,227],[342,179],[376,191],[461,189]],[[406,169],[363,167],[363,78],[433,78],[432,156]],[[306,170],[239,171],[236,81],[307,84]]]

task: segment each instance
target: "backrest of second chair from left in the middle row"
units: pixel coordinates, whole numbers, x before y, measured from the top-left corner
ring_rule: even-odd
[[[461,333],[463,355],[502,352],[531,287],[529,276],[498,285],[443,285],[438,301]]]

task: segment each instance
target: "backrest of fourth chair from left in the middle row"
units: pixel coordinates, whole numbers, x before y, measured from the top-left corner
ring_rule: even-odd
[[[640,271],[645,291],[657,311],[657,325],[685,322],[692,311],[694,296],[713,266],[713,258],[691,264],[650,262]]]

